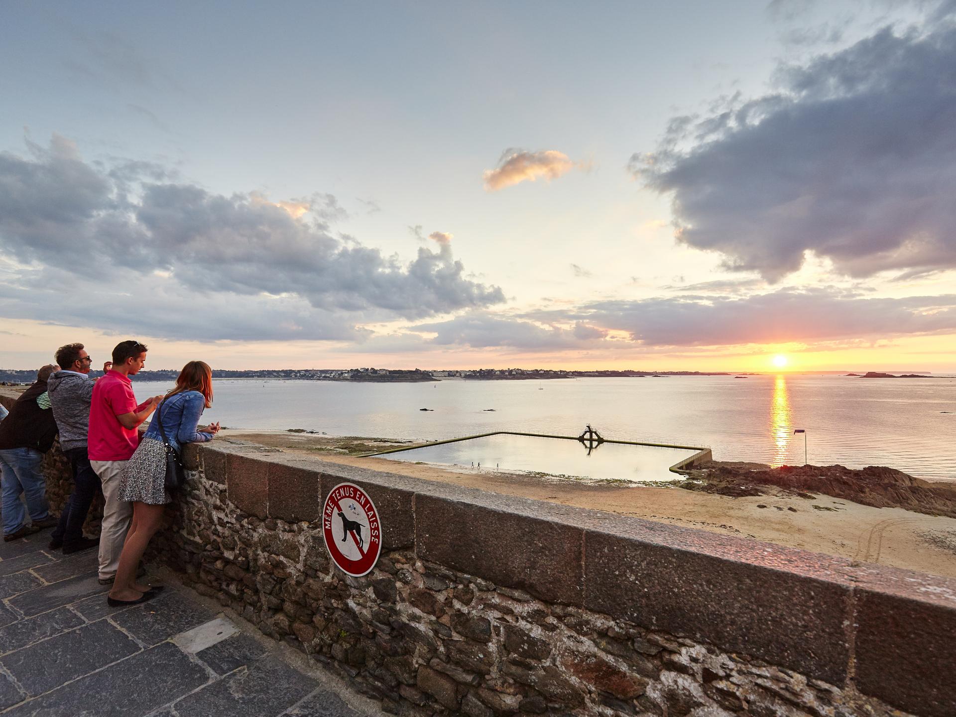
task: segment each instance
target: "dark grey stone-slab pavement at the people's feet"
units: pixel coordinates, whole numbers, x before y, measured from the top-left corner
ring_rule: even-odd
[[[381,714],[182,586],[108,607],[96,549],[64,556],[50,532],[0,542],[2,717]]]

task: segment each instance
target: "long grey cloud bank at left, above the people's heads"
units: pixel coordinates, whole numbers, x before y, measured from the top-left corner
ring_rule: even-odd
[[[209,323],[208,338],[256,337],[251,327],[284,326],[270,313],[282,301],[297,307],[300,326],[317,327],[307,330],[311,337],[340,337],[354,336],[356,321],[422,319],[504,300],[499,288],[467,279],[447,243],[420,248],[405,264],[333,237],[327,222],[344,210],[332,195],[288,202],[255,192],[225,196],[166,181],[168,173],[153,164],[85,163],[59,137],[49,148],[29,149],[29,157],[0,153],[0,255],[92,291],[84,294],[87,323],[115,318],[98,299],[147,286],[149,295],[140,295],[158,307],[157,316],[163,307],[175,314],[176,298],[186,297],[248,323]],[[30,276],[11,290],[26,287]],[[6,315],[42,308],[21,299],[4,305]],[[149,324],[145,315],[141,332],[150,325],[164,331],[157,316]]]

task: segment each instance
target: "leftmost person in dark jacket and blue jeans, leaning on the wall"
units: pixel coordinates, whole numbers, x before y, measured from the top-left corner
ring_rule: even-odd
[[[54,445],[56,422],[50,408],[47,380],[59,368],[36,372],[36,380],[0,422],[0,485],[3,489],[3,539],[7,542],[52,528],[56,519],[47,504],[47,481],[40,464]],[[27,525],[20,495],[26,494],[32,525]]]

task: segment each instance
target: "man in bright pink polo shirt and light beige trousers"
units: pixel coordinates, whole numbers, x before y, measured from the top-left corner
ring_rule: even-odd
[[[139,341],[122,341],[113,349],[113,368],[93,387],[90,403],[88,454],[103,487],[103,523],[99,533],[99,582],[109,585],[116,577],[123,540],[129,530],[133,504],[120,501],[120,475],[140,444],[137,426],[163,400],[153,396],[137,405],[130,376],[146,363],[146,347]]]

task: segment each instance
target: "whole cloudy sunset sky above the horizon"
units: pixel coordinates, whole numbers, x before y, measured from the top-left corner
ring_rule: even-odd
[[[0,367],[956,370],[956,2],[5,3]]]

